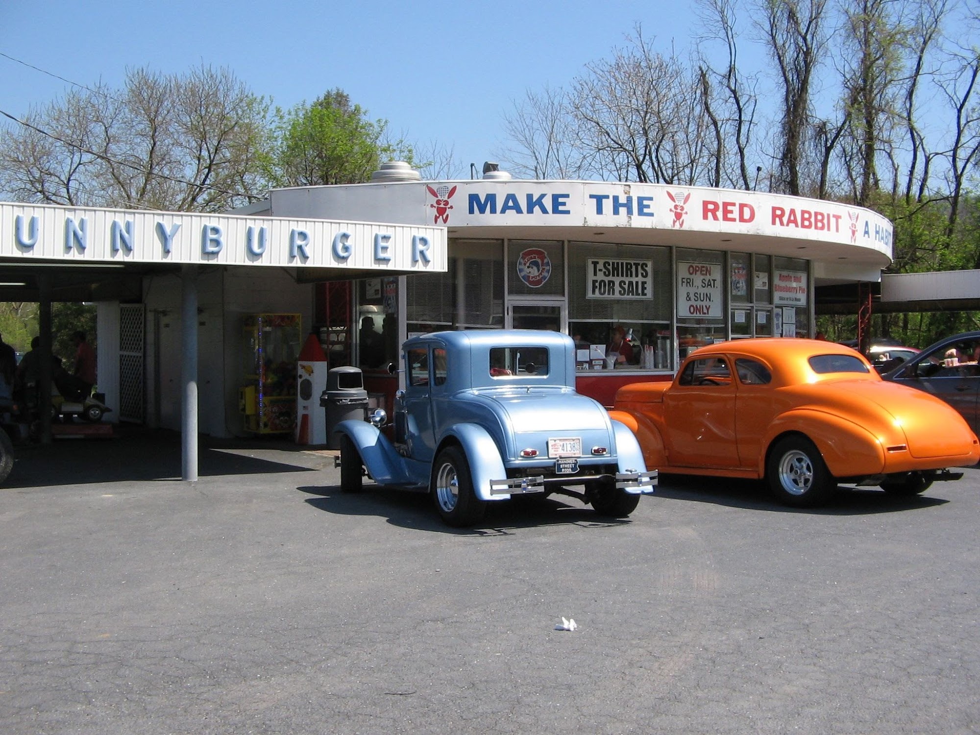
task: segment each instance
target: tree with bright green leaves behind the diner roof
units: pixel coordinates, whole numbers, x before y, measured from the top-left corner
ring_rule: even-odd
[[[363,183],[381,163],[414,161],[412,147],[388,139],[388,122],[368,120],[368,111],[341,89],[312,104],[277,109],[267,175],[273,186]]]

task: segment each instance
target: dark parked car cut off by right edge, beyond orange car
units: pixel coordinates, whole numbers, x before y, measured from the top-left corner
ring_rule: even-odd
[[[980,434],[980,331],[963,332],[926,347],[882,377],[946,401]]]

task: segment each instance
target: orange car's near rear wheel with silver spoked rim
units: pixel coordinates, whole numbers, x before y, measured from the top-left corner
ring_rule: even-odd
[[[765,476],[772,494],[794,508],[825,503],[837,488],[820,451],[805,436],[787,436],[776,442],[766,462]]]

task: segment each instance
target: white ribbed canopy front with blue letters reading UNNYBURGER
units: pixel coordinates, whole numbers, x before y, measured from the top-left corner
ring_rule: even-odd
[[[0,258],[444,272],[435,225],[0,203]]]

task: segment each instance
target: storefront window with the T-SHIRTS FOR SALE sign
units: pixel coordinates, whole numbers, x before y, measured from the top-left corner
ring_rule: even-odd
[[[669,248],[574,242],[568,252],[578,368],[670,368]]]

